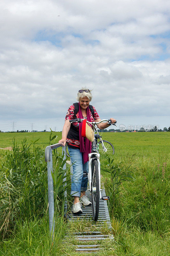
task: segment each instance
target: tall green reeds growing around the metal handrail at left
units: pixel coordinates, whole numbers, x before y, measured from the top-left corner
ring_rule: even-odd
[[[55,137],[55,136],[54,136]],[[53,138],[54,138],[53,137]],[[51,139],[50,134],[50,142]],[[48,211],[48,184],[45,151],[38,140],[18,146],[13,139],[12,152],[6,151],[0,164],[0,239],[8,237],[18,220],[38,219]],[[63,156],[54,153],[54,200],[57,216],[63,212],[66,189],[62,170]],[[68,182],[67,182],[68,184]],[[69,185],[69,184],[68,184]]]

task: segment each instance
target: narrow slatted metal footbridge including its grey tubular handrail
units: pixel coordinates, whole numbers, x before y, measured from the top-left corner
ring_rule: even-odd
[[[53,197],[53,179],[51,175],[51,171],[53,170],[53,157],[52,157],[52,150],[61,147],[61,143],[57,143],[51,146],[46,147],[45,151],[45,161],[47,162],[47,171],[48,171],[48,202],[49,202],[49,228],[50,228],[50,235],[53,238],[54,234],[54,197]],[[66,158],[66,149],[62,146],[62,152],[64,153],[64,158]],[[67,161],[67,164],[70,165],[70,161]],[[63,169],[66,169],[66,164],[63,166]],[[70,171],[72,173],[72,165],[70,165]],[[66,182],[66,180],[64,180]],[[106,196],[104,186],[102,186],[102,196]],[[86,191],[86,196],[91,201],[91,193],[89,190]],[[65,197],[67,198],[67,192],[65,192]],[[99,241],[103,240],[110,240],[113,241],[114,237],[111,233],[111,222],[109,216],[109,210],[107,201],[100,200],[99,203],[99,217],[96,222],[94,222],[92,217],[92,207],[85,206],[82,208],[82,214],[73,214],[72,209],[69,211],[67,207],[67,200],[65,203],[65,216],[70,224],[78,222],[78,221],[90,221],[91,226],[90,228],[87,226],[85,231],[82,232],[74,232],[74,248],[76,252],[84,252],[84,253],[92,253],[95,251],[99,251],[102,248],[100,247]],[[107,234],[103,232],[103,227],[107,226]],[[95,231],[94,231],[95,230]],[[69,232],[66,238],[69,236]]]

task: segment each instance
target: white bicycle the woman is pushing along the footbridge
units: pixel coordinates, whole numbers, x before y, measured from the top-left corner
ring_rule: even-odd
[[[70,123],[73,122],[78,122],[81,123],[84,119],[73,119],[70,120]],[[104,121],[107,121],[109,124],[111,123],[111,120],[103,119],[100,122],[89,122],[86,121],[87,124],[92,124],[92,130],[93,132],[96,131],[97,129],[95,125],[100,124]],[[115,125],[116,124],[112,124]],[[92,215],[94,221],[98,220],[98,215],[99,215],[99,200],[109,200],[109,196],[102,196],[101,195],[101,183],[100,183],[100,154],[97,149],[97,139],[100,138],[99,133],[95,134],[95,140],[93,140],[91,144],[91,153],[89,154],[89,173],[88,173],[88,178],[89,178],[89,190],[91,192],[91,198],[92,198]]]

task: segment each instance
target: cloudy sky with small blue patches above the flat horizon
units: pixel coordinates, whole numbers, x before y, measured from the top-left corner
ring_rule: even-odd
[[[82,86],[118,126],[170,126],[169,0],[5,0],[0,17],[0,130],[61,131]]]

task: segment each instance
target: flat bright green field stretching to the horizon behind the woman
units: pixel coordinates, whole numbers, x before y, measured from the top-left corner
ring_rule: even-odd
[[[49,145],[50,132],[26,132],[26,133],[0,133],[0,148],[12,146],[12,139],[15,137],[18,145],[26,138],[27,142],[37,140],[37,145],[46,148]],[[53,143],[58,143],[61,139],[61,132],[53,132],[57,135]],[[170,148],[170,133],[169,132],[138,132],[138,133],[125,133],[125,132],[107,132],[103,133],[103,140],[110,141],[115,147],[115,156],[120,154],[121,157],[127,154],[156,154],[161,152],[164,155],[169,152]],[[159,154],[159,153],[158,153]]]

